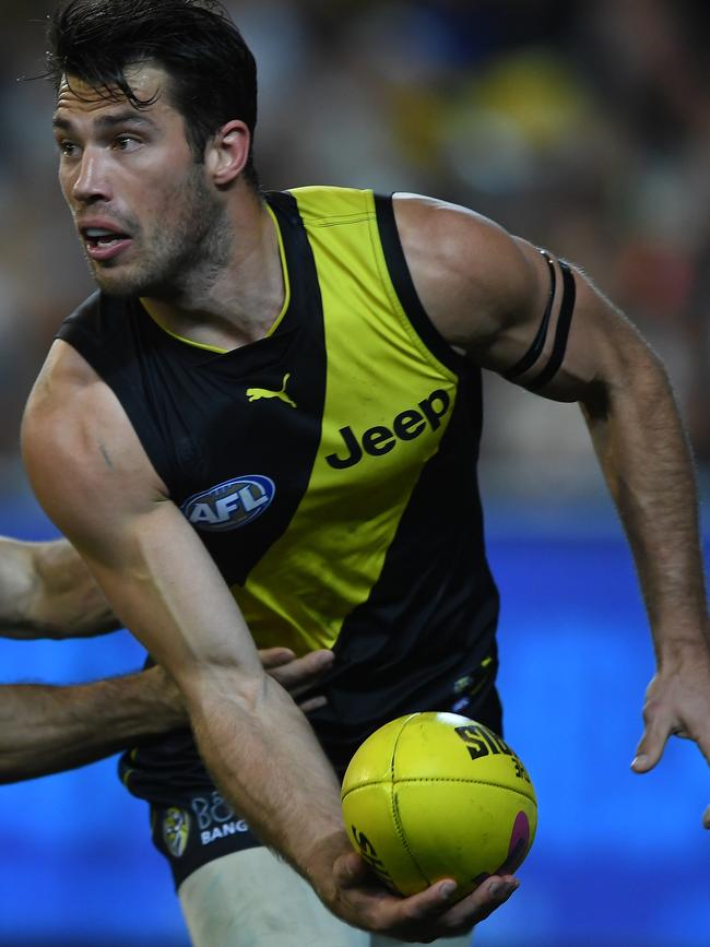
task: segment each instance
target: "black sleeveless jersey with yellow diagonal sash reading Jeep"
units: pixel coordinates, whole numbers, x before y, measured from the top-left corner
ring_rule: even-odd
[[[58,338],[116,393],[257,646],[333,648],[311,722],[342,769],[381,723],[493,689],[481,378],[423,310],[389,198],[267,202],[286,301],[264,339],[187,343],[98,293]]]

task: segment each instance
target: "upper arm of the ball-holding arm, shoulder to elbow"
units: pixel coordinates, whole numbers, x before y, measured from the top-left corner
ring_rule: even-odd
[[[52,346],[31,395],[22,446],[47,513],[126,627],[186,693],[217,665],[261,676],[229,590],[115,394],[63,342]]]

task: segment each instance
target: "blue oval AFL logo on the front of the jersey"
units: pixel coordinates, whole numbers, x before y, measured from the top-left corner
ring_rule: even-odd
[[[198,530],[236,530],[261,516],[275,495],[272,480],[249,474],[196,494],[180,509]]]

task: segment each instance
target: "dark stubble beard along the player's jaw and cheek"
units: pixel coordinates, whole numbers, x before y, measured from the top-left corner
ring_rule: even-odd
[[[170,213],[179,206],[180,212]],[[232,236],[223,206],[210,192],[200,166],[166,201],[169,230],[159,221],[147,229],[132,229],[138,259],[129,265],[120,257],[116,264],[88,260],[92,275],[113,296],[142,296],[179,301],[204,292],[224,269],[232,254]],[[156,214],[157,217],[157,214]]]

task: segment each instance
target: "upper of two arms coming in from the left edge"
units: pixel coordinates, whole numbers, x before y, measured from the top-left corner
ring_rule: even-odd
[[[0,537],[0,635],[83,638],[118,628],[106,597],[67,540]]]

